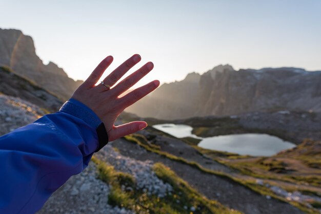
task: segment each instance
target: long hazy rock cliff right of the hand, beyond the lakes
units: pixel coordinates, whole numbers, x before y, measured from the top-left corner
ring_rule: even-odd
[[[187,81],[190,75],[197,76]],[[321,72],[296,68],[235,71],[218,66],[163,84],[127,111],[142,117],[182,119],[280,110],[321,111]]]

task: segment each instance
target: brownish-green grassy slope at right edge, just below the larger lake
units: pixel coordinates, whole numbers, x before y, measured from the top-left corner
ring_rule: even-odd
[[[206,154],[204,151],[201,152]],[[306,140],[295,148],[272,157],[235,161],[226,157],[219,159],[213,157],[213,159],[251,177],[319,187],[321,186],[321,170],[318,165],[320,157],[320,142]]]

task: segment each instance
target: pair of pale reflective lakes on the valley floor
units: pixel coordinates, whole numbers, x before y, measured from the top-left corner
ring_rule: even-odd
[[[251,156],[271,156],[296,145],[267,134],[235,134],[201,138],[192,134],[193,128],[183,124],[157,124],[155,129],[177,138],[193,137],[202,139],[199,147]]]

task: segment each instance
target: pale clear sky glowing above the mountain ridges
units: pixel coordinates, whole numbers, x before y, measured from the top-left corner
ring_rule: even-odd
[[[321,70],[321,1],[3,1],[0,28],[33,37],[37,55],[86,79],[108,55],[106,75],[131,55],[154,79],[182,80],[219,64],[234,69]],[[130,72],[129,72],[130,73]]]

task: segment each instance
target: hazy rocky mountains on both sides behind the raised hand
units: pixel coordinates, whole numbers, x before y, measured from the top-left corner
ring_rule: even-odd
[[[44,65],[33,39],[20,30],[0,29],[0,67],[67,100],[82,83],[62,68]],[[190,73],[182,81],[165,83],[126,109],[141,117],[184,119],[247,112],[321,111],[321,71],[299,68],[234,70],[219,65],[204,74]]]

